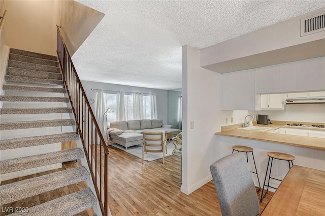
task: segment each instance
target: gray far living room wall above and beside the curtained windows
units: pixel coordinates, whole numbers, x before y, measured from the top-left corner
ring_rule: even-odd
[[[97,101],[97,91],[91,90],[103,88],[104,90],[112,91],[124,91],[124,92],[142,92],[146,94],[154,93],[157,97],[157,118],[163,119],[164,124],[168,123],[168,90],[153,89],[153,88],[141,88],[135,86],[127,85],[115,85],[102,82],[90,82],[81,81],[82,85],[86,91],[86,95],[89,98],[95,99],[95,103],[91,106],[94,114],[96,113],[96,101]]]

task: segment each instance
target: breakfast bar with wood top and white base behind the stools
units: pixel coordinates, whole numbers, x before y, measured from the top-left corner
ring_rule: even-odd
[[[295,157],[294,165],[304,166],[312,169],[325,171],[325,138],[310,137],[310,133],[320,133],[323,136],[324,128],[286,126],[291,122],[272,121],[272,125],[257,125],[253,122],[252,130],[238,129],[242,124],[224,126],[221,132],[216,132],[217,136],[215,148],[216,158],[220,159],[232,153],[234,145],[244,145],[253,148],[256,169],[260,182],[263,184],[268,165],[267,153],[277,151],[288,153]],[[312,125],[310,122],[303,122],[305,126]],[[321,124],[324,125],[324,124]],[[253,128],[262,130],[254,131]],[[257,126],[257,127],[256,127]],[[262,127],[266,127],[266,131]],[[274,130],[296,131],[298,135],[274,133]],[[281,130],[282,130],[281,129]],[[309,131],[307,136],[300,136],[300,129]],[[249,166],[255,170],[252,155],[248,154]],[[286,161],[276,161],[272,168],[272,177],[283,179],[288,172]],[[258,186],[256,175],[252,175],[255,186]],[[262,185],[261,185],[262,186]],[[271,179],[270,186],[277,188],[279,181]],[[271,189],[271,191],[274,191]]]

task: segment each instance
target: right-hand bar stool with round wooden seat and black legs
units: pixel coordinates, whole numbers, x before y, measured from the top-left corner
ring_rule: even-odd
[[[268,193],[269,187],[270,188],[273,188],[273,189],[276,189],[276,188],[270,186],[270,178],[272,178],[271,177],[271,170],[272,170],[273,159],[282,160],[282,161],[288,161],[288,163],[289,163],[289,169],[291,169],[291,166],[294,165],[293,160],[295,160],[295,156],[289,155],[287,153],[282,153],[282,152],[270,151],[270,152],[268,152],[268,156],[269,156],[269,162],[268,162],[268,167],[266,168],[265,179],[264,179],[264,184],[263,184],[263,189],[262,189],[262,194],[261,194],[261,202],[264,199],[264,197],[266,196],[266,194]],[[270,166],[270,173],[269,173],[269,181],[268,181],[268,184],[265,184],[266,177],[268,175],[270,159],[271,159],[271,166]],[[290,161],[291,161],[291,166],[290,166]],[[272,179],[278,180],[278,181],[282,181],[282,180],[277,179],[277,178],[272,178]],[[263,196],[264,186],[268,186],[268,188],[266,190],[266,193]]]

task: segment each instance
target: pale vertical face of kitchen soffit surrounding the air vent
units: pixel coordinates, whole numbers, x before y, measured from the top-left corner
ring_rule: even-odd
[[[321,8],[201,50],[201,66],[268,52],[325,38],[325,32],[300,37],[300,19]]]

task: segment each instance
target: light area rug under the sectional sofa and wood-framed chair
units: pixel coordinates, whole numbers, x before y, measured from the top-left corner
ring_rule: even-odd
[[[112,143],[111,146],[114,146],[115,148],[125,151],[125,147],[121,146],[119,144]],[[175,148],[175,145],[173,145],[172,142],[167,142],[167,154],[165,153],[165,158],[172,155],[172,151],[174,150],[174,148]],[[131,155],[134,155],[134,156],[142,159],[142,144],[130,146],[127,148],[127,151],[125,151],[125,152],[130,153]],[[147,152],[144,154],[145,161],[154,161],[154,160],[157,160],[160,158],[163,158],[163,153]]]

